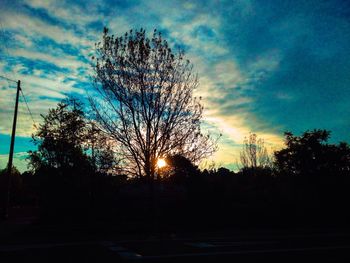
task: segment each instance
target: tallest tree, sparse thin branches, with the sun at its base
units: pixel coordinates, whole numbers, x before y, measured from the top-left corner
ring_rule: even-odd
[[[96,57],[99,96],[91,105],[100,128],[119,143],[127,173],[153,178],[158,158],[181,154],[198,163],[216,150],[216,141],[201,132],[193,66],[161,33],[114,37],[105,28]]]

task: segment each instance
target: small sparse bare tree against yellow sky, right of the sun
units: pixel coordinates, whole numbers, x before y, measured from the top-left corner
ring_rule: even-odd
[[[249,134],[243,141],[243,149],[240,153],[242,168],[266,168],[271,166],[271,157],[265,147],[263,139],[255,133]]]

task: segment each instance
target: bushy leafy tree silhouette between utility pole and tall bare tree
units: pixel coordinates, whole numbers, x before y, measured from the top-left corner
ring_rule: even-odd
[[[30,164],[34,170],[42,167],[66,169],[81,165],[87,160],[83,142],[86,127],[82,104],[76,99],[66,99],[41,115],[43,124],[33,134],[37,151],[30,151]]]

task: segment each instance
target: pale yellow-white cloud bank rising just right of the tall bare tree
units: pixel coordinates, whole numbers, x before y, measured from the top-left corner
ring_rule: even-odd
[[[247,12],[251,12],[248,9]],[[251,81],[256,72],[274,70],[279,64],[279,53],[277,51],[269,52],[256,58],[256,60],[249,63],[248,71],[243,72],[235,62],[235,58],[229,54],[225,42],[220,39],[219,19],[210,15],[201,15],[196,16],[193,20],[183,20],[183,23],[178,23],[177,18],[167,16],[163,23],[165,27],[175,30],[171,31],[172,37],[177,40],[180,39],[181,42],[190,46],[188,55],[200,77],[200,86],[195,95],[203,98],[205,106],[204,121],[210,126],[216,127],[223,134],[222,140],[219,141],[218,152],[209,160],[226,166],[235,164],[239,160],[240,145],[243,143],[244,137],[249,135],[250,132],[256,132],[259,137],[264,138],[268,148],[281,147],[281,136],[273,132],[253,130],[253,126],[259,120],[249,114],[249,107],[246,108],[246,111],[232,112],[230,116],[223,113],[225,107],[253,103],[252,98],[238,92],[235,88],[240,85],[245,86],[246,83]],[[213,29],[215,32],[214,41],[204,42],[193,37],[193,29],[200,25],[209,26]],[[206,55],[211,56],[214,60],[208,63]],[[225,55],[225,60],[217,59],[222,55]],[[232,96],[235,93],[236,96]],[[230,98],[235,98],[225,101],[228,95],[231,95]]]

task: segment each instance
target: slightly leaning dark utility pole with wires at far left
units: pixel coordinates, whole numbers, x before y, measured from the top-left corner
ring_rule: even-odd
[[[12,124],[12,135],[11,135],[11,144],[10,144],[10,154],[9,162],[7,166],[7,193],[5,200],[5,209],[4,209],[4,218],[8,218],[9,208],[10,208],[10,193],[11,193],[11,171],[12,171],[12,162],[13,162],[13,150],[15,146],[15,137],[16,137],[16,125],[17,125],[17,112],[18,112],[18,99],[19,92],[21,90],[21,81],[17,81],[17,93],[16,93],[16,104],[15,104],[15,113],[13,117]]]

